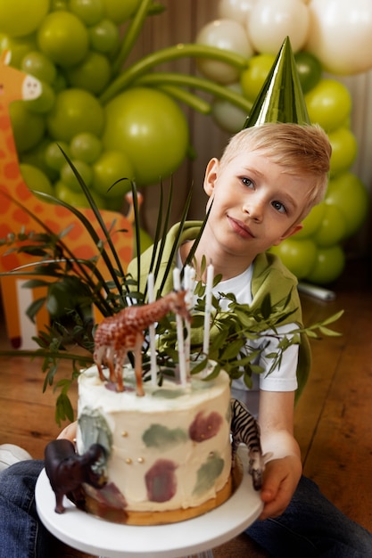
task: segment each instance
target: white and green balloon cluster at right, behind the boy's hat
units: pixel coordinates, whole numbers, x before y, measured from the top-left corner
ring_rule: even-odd
[[[351,131],[351,94],[337,77],[372,68],[372,4],[369,0],[219,0],[219,18],[200,29],[196,42],[249,58],[243,71],[199,62],[203,75],[253,102],[283,41],[289,36],[311,122],[332,144],[325,200],[305,218],[299,234],[273,248],[299,279],[330,283],[341,275],[343,242],[368,217],[368,193],[351,172],[358,144]],[[327,72],[327,73],[326,73]],[[235,133],[243,113],[216,101],[213,118]]]

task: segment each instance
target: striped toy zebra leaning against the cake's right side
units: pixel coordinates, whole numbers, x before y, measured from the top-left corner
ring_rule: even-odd
[[[231,398],[231,436],[232,436],[232,466],[235,466],[236,451],[239,444],[248,447],[249,468],[252,475],[253,488],[260,490],[262,486],[262,472],[265,468],[264,456],[260,446],[260,426],[247,407]]]

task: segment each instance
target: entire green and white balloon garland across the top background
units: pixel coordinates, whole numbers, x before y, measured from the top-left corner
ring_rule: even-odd
[[[290,64],[277,63],[279,73],[269,78],[285,82],[285,90],[279,93],[276,88],[277,96],[270,100],[270,118],[281,119],[280,107],[285,104],[285,112],[292,111],[289,120],[300,116],[300,121],[309,119],[324,127],[333,154],[325,201],[304,219],[296,238],[288,239],[295,240],[300,250],[308,245],[305,241],[312,242],[318,250],[316,262],[303,258],[314,265],[309,271],[302,262],[299,270],[289,257],[292,244],[282,249],[281,257],[302,278],[335,281],[344,264],[342,243],[358,233],[368,213],[366,188],[351,172],[358,156],[351,130],[351,95],[337,74],[372,69],[372,4],[370,0],[216,3],[219,18],[199,30],[194,44],[170,46],[135,62],[128,62],[129,54],[146,18],[162,10],[153,0],[3,3],[0,51],[10,50],[12,66],[42,85],[37,98],[11,106],[21,164],[39,169],[48,181],[42,180],[45,187],[50,184],[54,195],[79,206],[83,200],[63,168],[58,142],[84,174],[97,205],[121,209],[126,181],[105,191],[114,176],[132,176],[140,188],[158,184],[185,159],[189,131],[178,102],[210,114],[229,134],[264,121],[257,97],[262,91],[265,95],[262,87],[288,37]],[[196,75],[157,71],[163,62],[185,57],[195,59]],[[325,78],[325,70],[335,75]],[[305,106],[297,104],[299,95],[293,96],[301,89]],[[199,91],[206,95],[200,97]],[[25,168],[31,184],[36,174],[29,167]]]

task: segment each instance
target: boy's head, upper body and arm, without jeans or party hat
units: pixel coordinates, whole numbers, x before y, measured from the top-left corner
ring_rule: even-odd
[[[330,154],[327,135],[318,127],[264,124],[233,136],[221,160],[211,159],[206,168],[203,186],[209,196],[207,208],[211,202],[212,206],[194,254],[196,278],[205,279],[200,275],[205,258],[207,264],[213,264],[215,275],[222,275],[215,288],[217,296],[218,291],[233,292],[237,302],[252,306],[255,291],[263,294],[271,286],[270,294],[275,302],[283,298],[281,291],[285,290],[287,295],[294,287],[292,309],[300,308],[295,278],[280,265],[277,257],[266,254],[266,250],[298,232],[302,219],[314,203],[322,199],[327,187]],[[178,261],[174,262],[178,266],[183,265],[193,245],[193,239],[187,237],[190,232],[195,237],[198,226],[194,223],[190,228],[186,225],[185,229],[186,239],[181,240]],[[170,232],[169,244],[172,243]],[[147,253],[151,252],[152,249]],[[146,260],[145,253],[141,257],[143,288],[148,275]],[[167,263],[165,250],[164,266]],[[257,268],[260,284],[252,290]],[[134,274],[135,269],[133,262],[128,272]],[[272,272],[275,278],[264,282],[262,271],[266,277]],[[160,274],[156,284],[161,279]],[[268,284],[262,289],[263,283]],[[281,283],[280,288],[278,283]],[[170,283],[165,291],[169,287]],[[300,312],[297,312],[296,321],[301,322]],[[288,325],[289,328],[284,329],[293,329],[293,324]],[[260,343],[262,341],[265,340],[260,339]],[[261,354],[260,365],[267,366],[265,353],[272,349],[271,341]],[[293,345],[285,351],[280,368],[269,376],[260,374],[260,386],[256,382],[254,390],[259,405],[254,405],[252,395],[250,401],[245,398],[251,411],[259,411],[263,452],[272,454],[261,490],[265,503],[261,519],[284,512],[301,477],[300,449],[293,438],[297,361],[298,346]],[[244,389],[243,382],[235,387]],[[242,398],[244,392],[240,395]]]

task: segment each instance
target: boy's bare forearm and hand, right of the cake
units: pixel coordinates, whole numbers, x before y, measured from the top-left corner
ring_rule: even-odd
[[[260,519],[285,511],[302,474],[301,452],[293,437],[293,391],[260,390],[259,423],[263,453],[270,461],[263,475]]]

